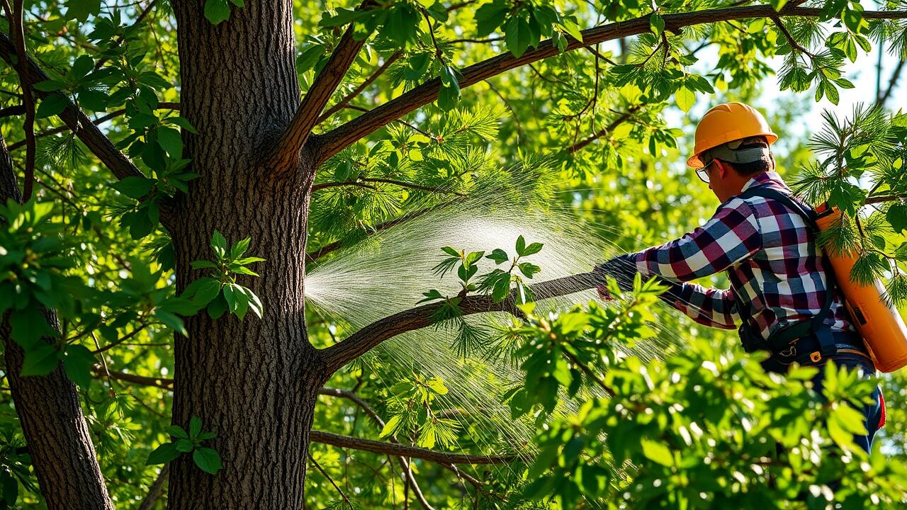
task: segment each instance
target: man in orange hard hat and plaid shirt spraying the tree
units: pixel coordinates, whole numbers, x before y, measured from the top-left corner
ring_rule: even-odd
[[[746,352],[767,350],[768,371],[794,362],[821,367],[829,360],[875,371],[835,290],[831,266],[815,243],[808,206],[791,198],[775,172],[770,144],[777,140],[766,119],[742,103],[719,104],[696,130],[688,165],[721,201],[701,228],[678,240],[620,255],[596,270],[632,287],[635,273],[669,286],[662,298],[700,324],[735,329]],[[706,289],[696,280],[727,270],[730,289]],[[813,382],[822,390],[824,371]],[[862,409],[866,436],[854,441],[867,451],[884,423],[878,387]]]

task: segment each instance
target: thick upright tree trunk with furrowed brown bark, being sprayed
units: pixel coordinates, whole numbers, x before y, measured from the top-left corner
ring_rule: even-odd
[[[308,197],[314,169],[276,177],[260,158],[299,103],[292,2],[247,2],[211,25],[203,0],[174,2],[179,26],[180,112],[185,157],[201,177],[171,221],[178,289],[203,275],[210,238],[251,238],[249,255],[267,259],[242,277],[264,318],[207,313],[187,319],[175,341],[173,423],[200,417],[218,436],[223,469],[211,476],[190,455],[172,464],[169,505],[184,508],[297,509],[303,506],[308,431],[325,368],[307,338],[305,276]]]

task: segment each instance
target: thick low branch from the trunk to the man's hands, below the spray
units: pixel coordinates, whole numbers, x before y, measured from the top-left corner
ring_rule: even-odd
[[[580,273],[556,280],[542,281],[532,285],[530,288],[532,289],[532,295],[539,300],[566,296],[581,290],[594,289],[602,283],[604,282],[593,273]],[[459,307],[463,311],[463,315],[490,311],[506,311],[516,314],[518,309],[514,304],[514,298],[515,294],[511,293],[507,299],[495,303],[491,296],[466,296],[460,301]],[[366,352],[388,338],[394,338],[407,331],[431,326],[434,324],[432,319],[434,312],[441,308],[441,305],[442,302],[430,303],[414,309],[397,312],[384,319],[379,319],[363,329],[359,329],[340,343],[322,349],[327,363],[327,373],[333,374],[336,370],[366,354]]]

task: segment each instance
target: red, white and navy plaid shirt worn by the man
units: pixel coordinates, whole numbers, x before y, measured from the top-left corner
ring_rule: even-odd
[[[775,172],[756,175],[743,190],[752,186],[791,193]],[[631,257],[643,275],[684,282],[674,307],[714,328],[736,329],[735,320],[746,319],[750,330],[768,338],[786,324],[812,319],[825,302],[826,274],[813,230],[784,204],[762,197],[733,197],[701,228]],[[723,270],[730,289],[687,283]],[[832,329],[853,331],[838,292],[826,323],[830,319]]]

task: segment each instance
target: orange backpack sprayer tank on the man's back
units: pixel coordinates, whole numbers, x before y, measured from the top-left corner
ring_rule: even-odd
[[[841,221],[841,211],[823,204],[815,210],[819,230],[825,230]],[[832,264],[838,287],[844,293],[844,306],[850,311],[853,325],[860,331],[869,348],[875,368],[893,372],[907,366],[907,326],[898,309],[883,298],[882,282],[862,285],[850,279],[856,253],[834,253],[826,250]]]

